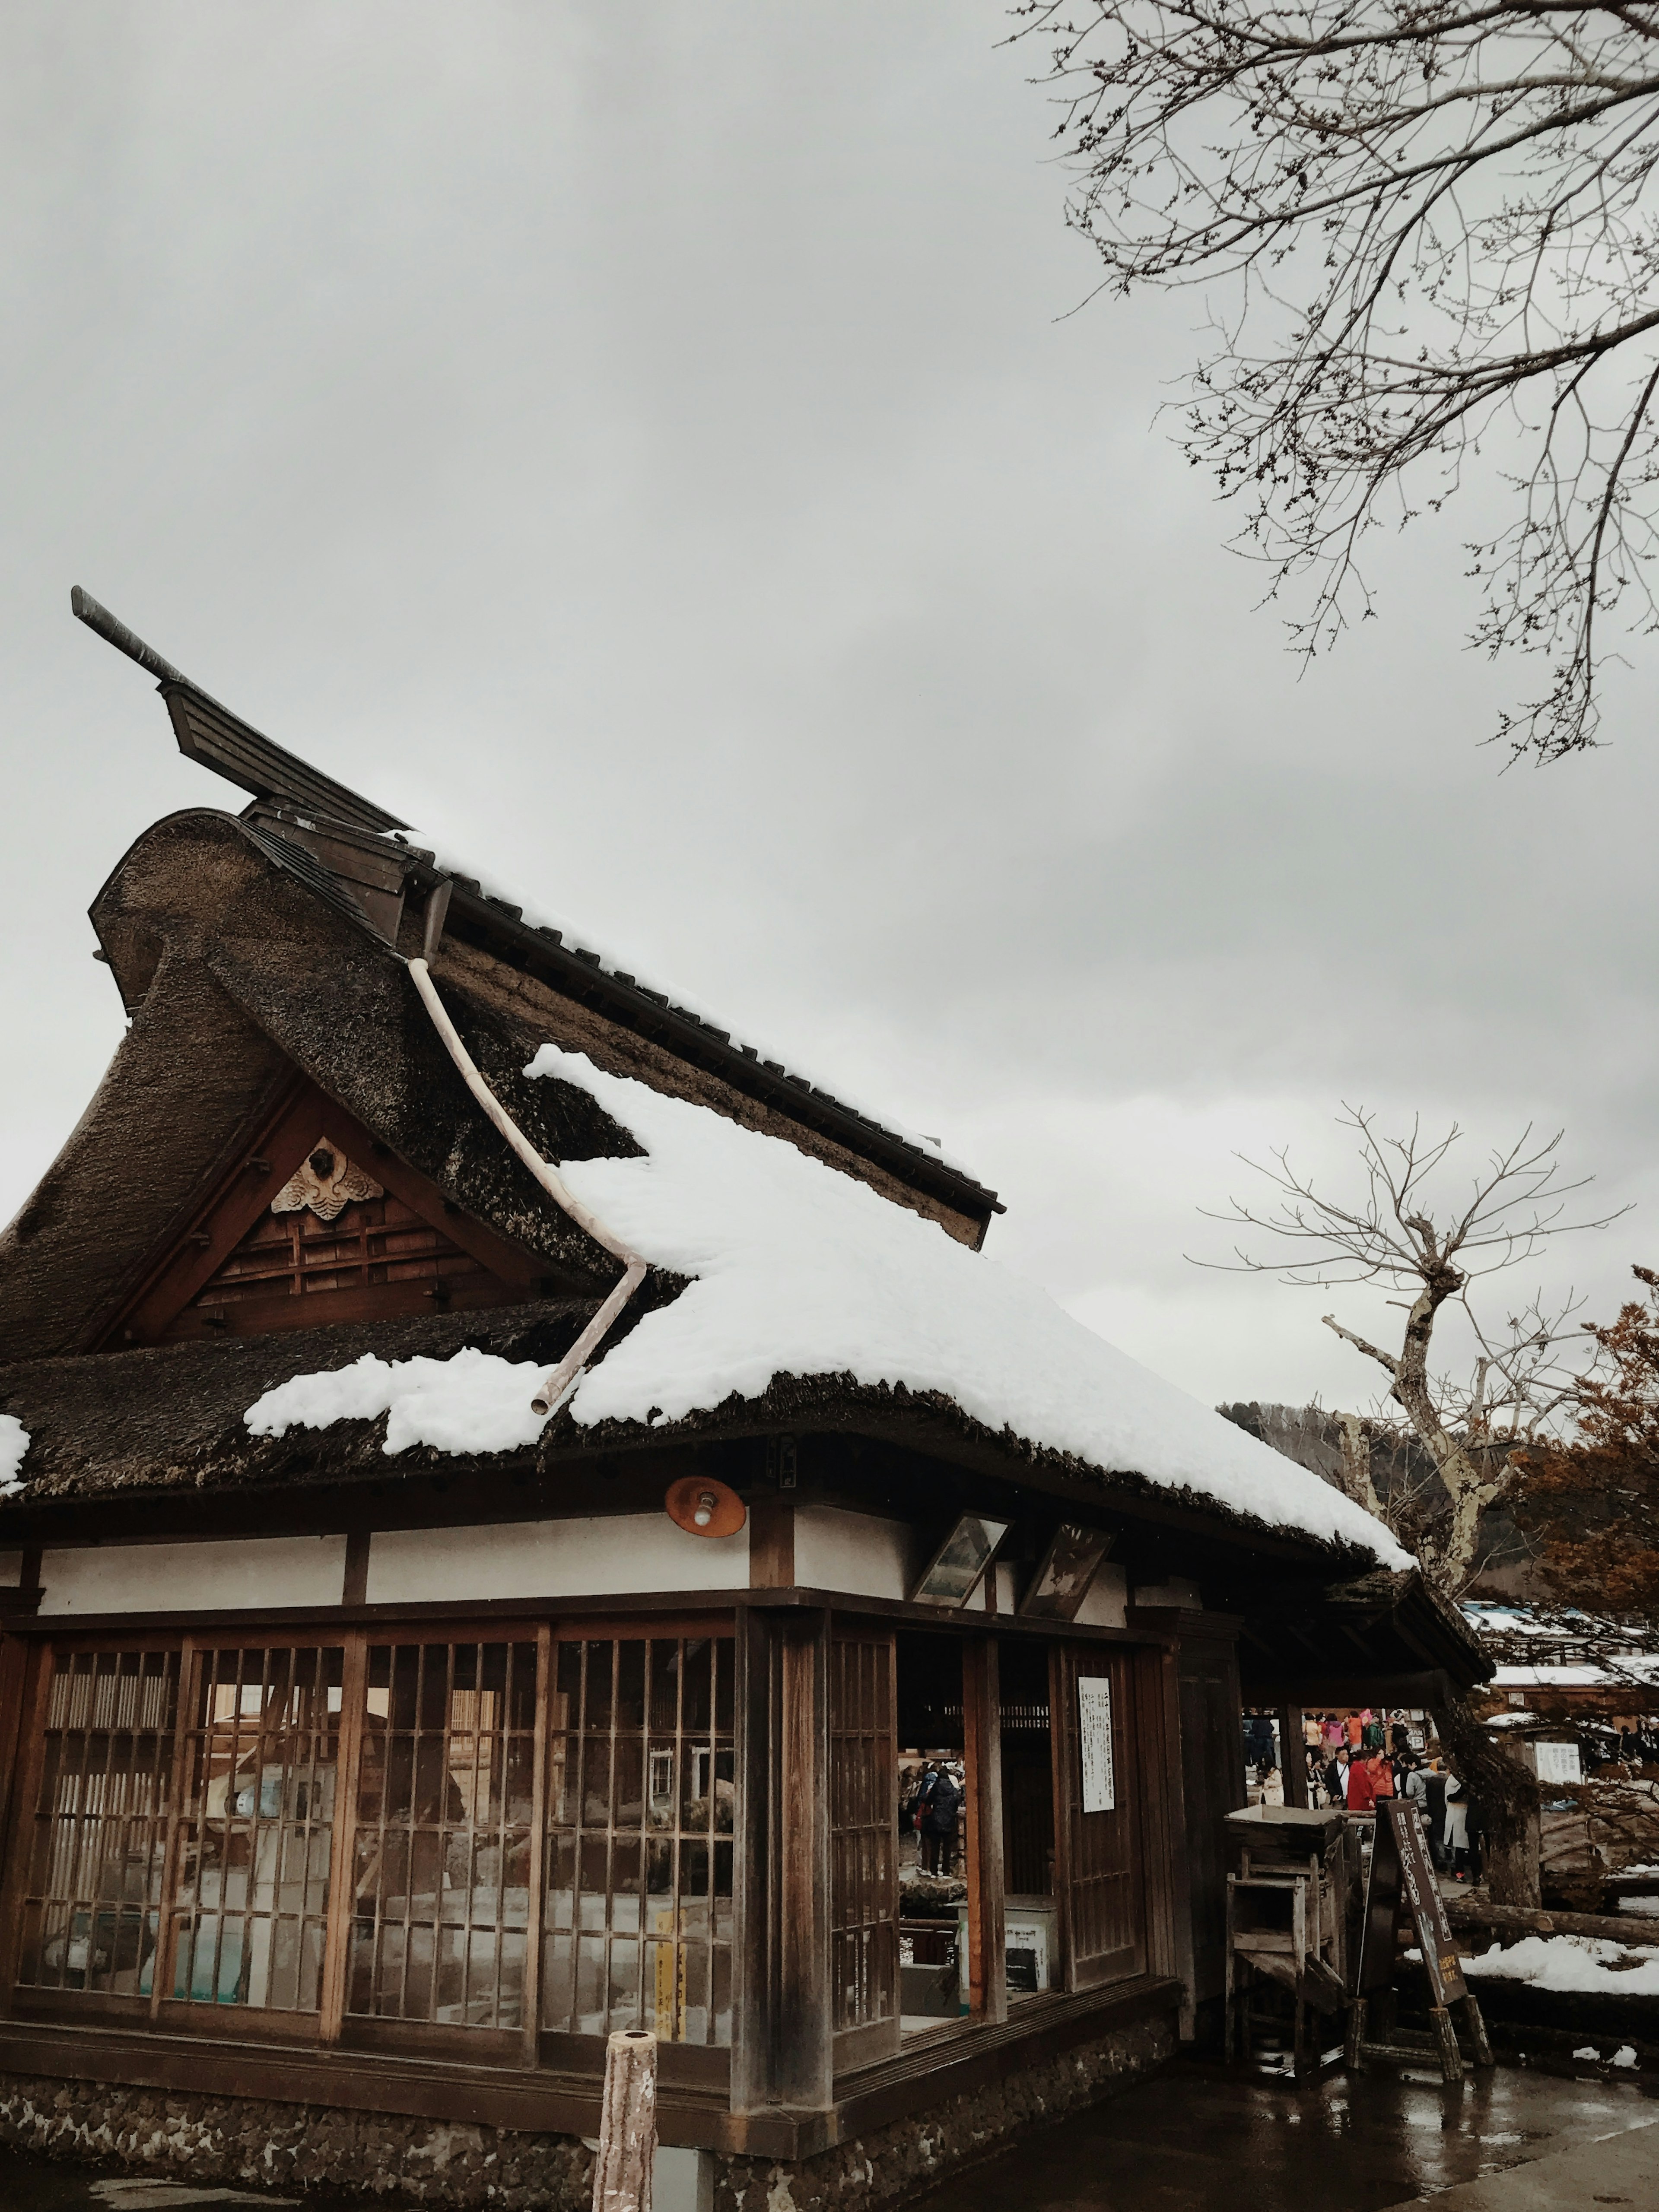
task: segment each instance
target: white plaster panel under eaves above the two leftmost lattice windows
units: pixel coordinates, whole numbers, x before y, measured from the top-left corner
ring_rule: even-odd
[[[42,1613],[228,1613],[338,1606],[343,1535],[259,1535],[208,1544],[97,1544],[49,1551]]]

